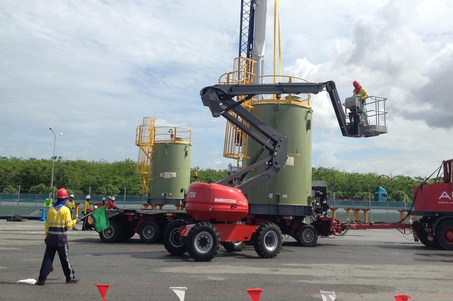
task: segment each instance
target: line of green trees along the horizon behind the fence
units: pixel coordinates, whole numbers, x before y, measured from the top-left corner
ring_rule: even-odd
[[[48,194],[51,186],[52,159],[0,157],[0,193]],[[140,175],[136,172],[136,162],[131,159],[107,162],[105,160],[63,160],[55,157],[53,186],[57,190],[66,187],[70,193],[95,195],[142,195]],[[216,182],[228,175],[227,169],[215,170],[191,168],[191,182],[194,173],[200,182]],[[313,180],[327,181],[328,196],[331,196],[330,180],[335,182],[337,199],[365,199],[376,186],[387,190],[388,201],[412,201],[413,187],[424,178],[404,175],[379,175],[373,172],[358,173],[339,171],[335,168],[313,168]],[[431,182],[433,180],[430,180]]]

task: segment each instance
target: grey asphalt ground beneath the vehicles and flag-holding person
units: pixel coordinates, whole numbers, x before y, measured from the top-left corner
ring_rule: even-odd
[[[38,279],[44,222],[0,220],[0,299],[102,300],[95,283],[110,284],[108,301],[178,301],[170,286],[187,287],[185,301],[250,301],[247,288],[262,288],[260,301],[321,300],[320,290],[344,301],[394,300],[395,294],[411,301],[453,299],[453,252],[425,247],[396,229],[350,230],[341,238],[320,237],[316,247],[285,238],[273,259],[259,257],[253,246],[242,252],[221,247],[211,262],[171,255],[137,234],[113,244],[95,231],[70,230],[68,236],[79,283],[64,283],[57,255],[45,286],[17,284]]]

